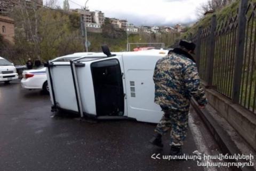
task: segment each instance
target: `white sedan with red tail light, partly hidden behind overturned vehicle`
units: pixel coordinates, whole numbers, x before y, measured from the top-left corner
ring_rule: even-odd
[[[78,57],[81,57],[81,53],[57,57],[53,59],[51,62],[68,62],[70,59],[75,59]],[[44,92],[49,92],[45,67],[40,67],[39,69],[35,70],[25,70],[22,72],[22,77],[22,88],[29,90],[42,89]]]

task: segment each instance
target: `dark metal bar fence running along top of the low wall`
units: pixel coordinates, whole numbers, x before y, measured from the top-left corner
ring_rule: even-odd
[[[213,88],[251,112],[256,108],[256,4],[239,2],[237,13],[225,21],[212,16],[211,24],[199,27],[196,42],[199,75]]]

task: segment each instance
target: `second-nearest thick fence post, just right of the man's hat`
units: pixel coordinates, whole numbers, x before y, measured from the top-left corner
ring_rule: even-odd
[[[212,16],[211,32],[210,32],[210,55],[207,60],[207,87],[212,86],[213,80],[213,64],[214,64],[214,52],[215,52],[215,29],[217,26],[216,15]]]

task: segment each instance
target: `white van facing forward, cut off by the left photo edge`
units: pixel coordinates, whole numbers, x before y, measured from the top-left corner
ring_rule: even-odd
[[[18,79],[18,73],[14,65],[5,58],[0,57],[0,82],[9,83]]]

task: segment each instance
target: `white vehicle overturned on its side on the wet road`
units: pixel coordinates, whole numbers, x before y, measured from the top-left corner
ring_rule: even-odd
[[[79,113],[81,117],[134,118],[157,123],[161,107],[154,103],[153,74],[156,62],[169,50],[139,52],[75,53],[69,62],[47,67],[52,111]]]

